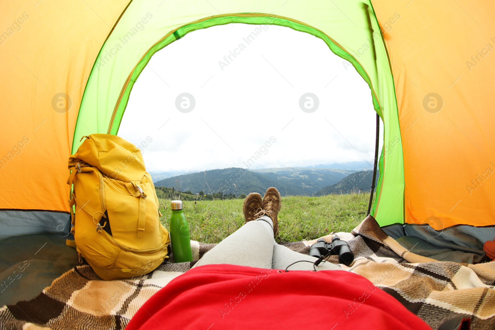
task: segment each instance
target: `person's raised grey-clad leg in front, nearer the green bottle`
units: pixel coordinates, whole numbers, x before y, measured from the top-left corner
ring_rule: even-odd
[[[262,216],[247,222],[223,239],[206,252],[193,268],[210,264],[271,268],[274,244],[277,245],[273,239],[272,220]]]

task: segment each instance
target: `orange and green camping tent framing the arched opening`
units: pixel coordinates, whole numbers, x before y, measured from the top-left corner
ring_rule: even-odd
[[[67,159],[80,139],[118,134],[133,85],[155,52],[195,30],[229,23],[311,34],[367,82],[384,125],[370,213],[390,235],[434,231],[478,249],[495,236],[495,3],[29,0],[0,6],[0,238],[68,234]]]

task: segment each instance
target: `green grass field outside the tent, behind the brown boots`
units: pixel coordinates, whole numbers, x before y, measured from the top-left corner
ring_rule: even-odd
[[[161,222],[169,228],[170,200],[159,198]],[[218,243],[244,224],[243,199],[184,201],[191,239]],[[350,232],[366,216],[369,193],[282,197],[280,239],[298,241]]]

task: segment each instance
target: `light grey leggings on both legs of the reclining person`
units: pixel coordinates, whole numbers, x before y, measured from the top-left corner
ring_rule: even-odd
[[[194,267],[211,264],[230,264],[265,269],[282,269],[299,260],[314,262],[315,257],[293,251],[279,245],[273,239],[273,223],[268,216],[249,221],[232,235],[206,252]],[[193,267],[193,268],[194,268]],[[289,270],[313,270],[309,262],[298,262]],[[316,270],[342,270],[324,262]]]

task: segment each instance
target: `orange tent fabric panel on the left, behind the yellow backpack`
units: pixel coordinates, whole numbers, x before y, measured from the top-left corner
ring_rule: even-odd
[[[79,104],[128,2],[0,4],[1,21],[9,24],[0,31],[0,208],[69,211],[63,183]]]

